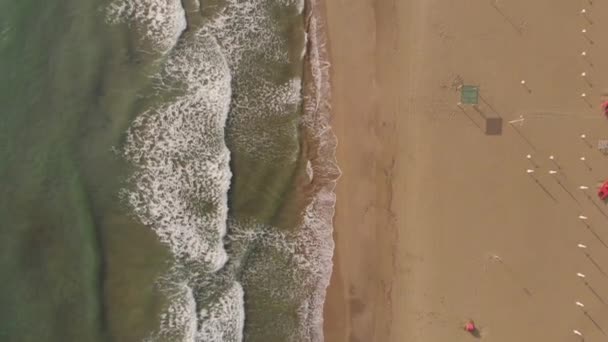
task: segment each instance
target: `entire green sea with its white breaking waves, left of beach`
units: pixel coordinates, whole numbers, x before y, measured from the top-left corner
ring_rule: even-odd
[[[0,0],[0,341],[322,341],[303,0]]]

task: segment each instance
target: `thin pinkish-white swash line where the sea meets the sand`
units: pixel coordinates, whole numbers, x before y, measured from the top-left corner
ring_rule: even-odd
[[[321,0],[305,0],[304,27],[307,35],[302,77],[303,156],[309,166],[310,183],[305,186],[308,205],[304,210],[303,235],[313,255],[317,279],[306,303],[309,341],[323,341],[323,308],[332,273],[334,252],[333,218],[335,187],[341,171],[336,161],[337,138],[331,128],[331,89],[325,18]]]

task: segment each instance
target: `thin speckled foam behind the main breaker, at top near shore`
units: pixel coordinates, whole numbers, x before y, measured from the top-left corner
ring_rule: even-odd
[[[300,6],[300,0],[277,0],[281,6]],[[293,114],[301,104],[299,77],[277,84],[268,68],[255,63],[287,65],[290,63],[289,42],[276,31],[272,1],[227,0],[221,14],[213,17],[205,30],[217,37],[233,70],[239,91],[233,97],[229,126],[234,148],[251,158],[267,162],[293,163],[298,157],[298,123],[281,120]],[[272,130],[265,128],[273,120]],[[256,134],[251,130],[256,128]],[[286,148],[292,139],[294,148]]]

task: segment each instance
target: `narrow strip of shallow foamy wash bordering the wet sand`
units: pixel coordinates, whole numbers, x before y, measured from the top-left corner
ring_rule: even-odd
[[[318,238],[325,241],[324,248],[318,250],[322,261],[323,276],[312,298],[311,317],[314,330],[310,331],[311,341],[324,341],[323,308],[327,287],[333,269],[333,218],[335,213],[335,187],[341,175],[336,160],[337,137],[331,130],[331,84],[330,63],[327,50],[327,31],[323,12],[323,0],[306,0],[305,23],[307,32],[306,58],[304,60],[303,121],[306,139],[311,143],[310,157],[313,174],[315,206],[318,219],[325,227]],[[320,266],[321,266],[320,265]]]

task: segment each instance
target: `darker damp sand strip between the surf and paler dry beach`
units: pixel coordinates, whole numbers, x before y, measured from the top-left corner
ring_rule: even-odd
[[[394,53],[391,2],[325,2],[332,61],[332,126],[343,176],[336,188],[334,269],[325,305],[331,342],[389,341],[405,179],[400,158],[412,137],[399,116],[404,56]],[[373,9],[373,10],[372,10]],[[352,20],[357,25],[352,25]],[[379,22],[378,20],[383,20]],[[406,77],[403,77],[406,79]],[[400,146],[403,145],[403,146]]]

